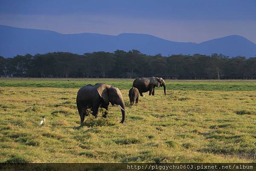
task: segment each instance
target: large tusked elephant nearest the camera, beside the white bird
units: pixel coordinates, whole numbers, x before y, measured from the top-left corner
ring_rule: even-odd
[[[97,117],[99,107],[105,108],[108,114],[109,102],[119,105],[122,112],[122,121],[125,121],[125,103],[120,90],[108,84],[97,83],[95,85],[88,84],[81,87],[76,96],[76,105],[81,119],[81,125],[84,122],[84,116],[88,116],[87,109],[92,108],[93,116]]]

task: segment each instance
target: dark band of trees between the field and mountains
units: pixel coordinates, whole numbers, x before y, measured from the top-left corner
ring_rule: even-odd
[[[0,77],[256,79],[256,57],[212,55],[145,55],[128,52],[92,52],[83,55],[51,52],[0,56]]]

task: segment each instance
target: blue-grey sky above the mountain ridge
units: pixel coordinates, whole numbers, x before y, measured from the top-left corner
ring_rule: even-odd
[[[197,43],[241,35],[256,43],[256,0],[0,0],[0,24]]]

